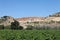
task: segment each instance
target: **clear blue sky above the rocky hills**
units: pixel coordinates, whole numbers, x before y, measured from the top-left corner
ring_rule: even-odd
[[[60,0],[0,0],[0,17],[45,17],[60,12]]]

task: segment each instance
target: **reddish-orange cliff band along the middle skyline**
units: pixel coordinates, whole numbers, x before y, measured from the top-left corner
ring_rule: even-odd
[[[19,22],[36,22],[36,21],[44,21],[44,17],[25,17],[25,18],[17,18],[16,20]]]

